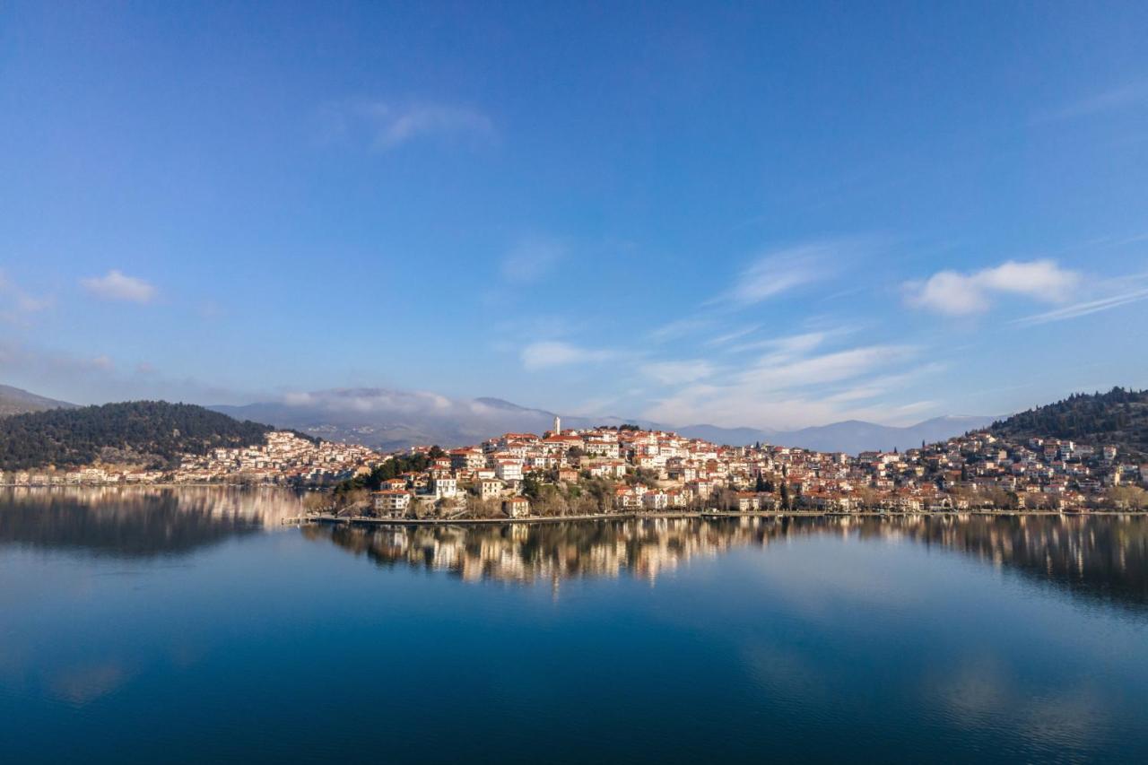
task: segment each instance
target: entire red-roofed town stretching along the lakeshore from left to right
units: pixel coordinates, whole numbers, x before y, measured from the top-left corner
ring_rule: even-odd
[[[1148,465],[1056,439],[982,431],[918,449],[856,456],[718,446],[633,426],[505,433],[449,451],[383,455],[286,431],[261,446],[185,455],[176,470],[88,466],[0,473],[0,485],[259,484],[344,490],[389,519],[526,518],[720,510],[934,512],[1143,509]],[[347,508],[341,508],[343,511]]]

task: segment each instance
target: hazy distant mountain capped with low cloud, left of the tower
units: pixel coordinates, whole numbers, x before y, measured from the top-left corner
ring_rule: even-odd
[[[448,399],[436,393],[386,388],[338,388],[290,394],[279,402],[211,407],[232,417],[292,427],[328,441],[395,450],[419,443],[458,447],[503,433],[538,433],[553,426],[554,412],[502,399]],[[651,423],[618,417],[567,417],[564,427]]]

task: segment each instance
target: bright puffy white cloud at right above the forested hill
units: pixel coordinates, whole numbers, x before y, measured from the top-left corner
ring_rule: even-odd
[[[948,316],[980,314],[1001,294],[1021,295],[1042,302],[1063,302],[1079,284],[1080,276],[1060,268],[1055,261],[1008,261],[972,273],[940,271],[925,281],[905,285],[906,302]]]

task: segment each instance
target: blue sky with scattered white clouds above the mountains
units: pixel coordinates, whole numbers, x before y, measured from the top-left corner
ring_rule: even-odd
[[[0,7],[0,382],[792,428],[1148,387],[1148,3]]]

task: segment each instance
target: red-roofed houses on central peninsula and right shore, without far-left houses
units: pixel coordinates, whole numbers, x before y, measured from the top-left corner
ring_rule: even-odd
[[[425,471],[387,481],[374,510],[391,518],[458,516],[475,502],[495,501],[506,516],[521,517],[532,513],[523,496],[529,478],[535,494],[541,482],[566,496],[604,479],[611,493],[598,508],[603,512],[1075,510],[1104,505],[1112,487],[1148,481],[1148,465],[1120,461],[1112,446],[1015,443],[988,432],[903,453],[851,456],[718,446],[660,431],[563,432],[556,420],[542,436],[506,433],[442,453]]]

